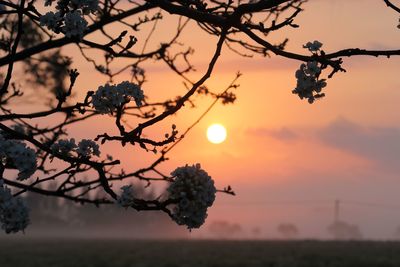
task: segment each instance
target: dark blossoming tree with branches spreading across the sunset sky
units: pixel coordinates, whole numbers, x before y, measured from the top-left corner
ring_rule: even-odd
[[[217,190],[200,165],[186,165],[165,174],[159,166],[168,153],[204,116],[187,129],[171,125],[163,136],[148,136],[150,128],[196,106],[196,96],[231,104],[236,100],[238,73],[220,92],[206,85],[222,49],[241,56],[279,56],[300,61],[292,91],[313,103],[325,96],[327,79],[342,67],[344,57],[397,56],[400,50],[350,48],[325,52],[319,41],[304,45],[305,53],[285,49],[283,39],[269,41],[272,32],[298,28],[295,20],[305,0],[0,0],[0,222],[7,232],[29,224],[26,192],[94,205],[119,203],[138,211],[157,210],[189,229],[200,227]],[[399,8],[383,0],[393,12]],[[194,22],[194,23],[193,23]],[[175,23],[173,27],[172,25]],[[172,29],[158,45],[150,41],[160,25]],[[216,38],[208,66],[194,74],[193,49],[181,42],[185,30],[198,27]],[[121,29],[119,32],[117,32]],[[141,42],[142,47],[137,43]],[[88,85],[76,96],[81,70],[63,47],[76,48],[93,71],[108,83]],[[124,60],[125,59],[125,60]],[[129,60],[126,60],[129,59]],[[147,98],[145,65],[165,64],[186,86],[183,95],[163,101]],[[73,67],[74,66],[74,67]],[[18,70],[18,71],[16,71]],[[121,81],[122,74],[129,81]],[[197,78],[193,78],[197,77]],[[118,80],[118,82],[116,82]],[[80,88],[82,90],[82,88]],[[22,108],[24,107],[24,108]],[[29,108],[29,109],[28,109]],[[79,123],[112,117],[115,129],[99,129],[94,140],[77,140],[69,132]],[[127,122],[127,119],[129,123]],[[132,126],[133,123],[133,126]],[[108,131],[108,132],[106,132]],[[103,145],[138,146],[158,158],[136,170],[119,168],[118,155],[104,155]],[[15,171],[16,170],[16,171]],[[84,179],[84,177],[90,177]],[[166,193],[153,199],[136,196],[129,180],[166,182]],[[45,186],[55,181],[56,187]],[[112,183],[126,184],[119,189]],[[11,190],[12,189],[12,190]],[[93,194],[101,189],[104,195]]]

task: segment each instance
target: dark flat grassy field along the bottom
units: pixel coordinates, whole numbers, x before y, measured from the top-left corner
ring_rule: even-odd
[[[400,243],[4,240],[1,267],[400,266]]]

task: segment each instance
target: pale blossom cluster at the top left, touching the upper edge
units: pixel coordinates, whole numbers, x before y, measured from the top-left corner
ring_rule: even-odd
[[[51,6],[54,0],[46,0],[45,6]],[[40,17],[40,25],[46,26],[56,33],[63,32],[65,36],[82,38],[87,29],[87,21],[83,17],[96,13],[99,9],[98,0],[59,0],[56,12],[49,11]]]

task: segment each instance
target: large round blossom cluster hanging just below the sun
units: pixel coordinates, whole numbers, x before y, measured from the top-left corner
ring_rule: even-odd
[[[200,164],[179,167],[171,175],[175,178],[167,191],[171,199],[178,201],[172,210],[174,221],[189,229],[199,228],[215,200],[214,181]]]

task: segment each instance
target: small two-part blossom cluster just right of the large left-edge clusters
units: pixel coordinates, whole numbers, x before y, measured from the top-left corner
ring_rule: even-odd
[[[83,139],[78,145],[75,144],[75,139],[60,139],[51,146],[51,150],[64,157],[72,156],[76,153],[83,158],[91,156],[100,156],[99,145],[92,140]]]

